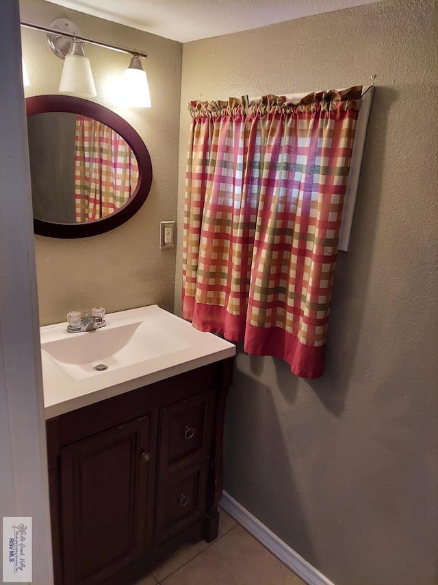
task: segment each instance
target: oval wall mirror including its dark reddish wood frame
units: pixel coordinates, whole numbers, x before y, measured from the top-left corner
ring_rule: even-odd
[[[132,217],[152,183],[140,135],[111,110],[79,97],[27,97],[34,230],[79,238]]]

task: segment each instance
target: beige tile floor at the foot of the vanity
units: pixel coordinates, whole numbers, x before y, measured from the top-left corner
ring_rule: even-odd
[[[306,585],[220,510],[218,538],[175,552],[137,585]]]

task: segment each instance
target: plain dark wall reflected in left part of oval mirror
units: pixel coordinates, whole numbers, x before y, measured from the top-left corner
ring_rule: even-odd
[[[75,116],[47,112],[27,117],[34,217],[75,222]]]

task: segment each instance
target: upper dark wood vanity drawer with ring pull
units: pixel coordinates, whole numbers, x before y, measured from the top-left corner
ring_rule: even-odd
[[[214,396],[214,390],[209,390],[162,409],[159,477],[178,473],[209,457]]]

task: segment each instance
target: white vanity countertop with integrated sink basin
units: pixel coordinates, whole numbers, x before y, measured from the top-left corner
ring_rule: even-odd
[[[92,343],[96,350],[103,348],[97,363],[107,361],[110,364],[103,372],[88,367],[76,374],[75,368],[81,366],[73,363],[73,358],[73,366],[70,366],[42,349],[46,419],[235,355],[233,344],[212,333],[197,331],[189,322],[157,305],[110,313],[105,320],[105,327],[86,333],[66,333],[66,323],[40,327],[42,348],[44,344],[54,346],[53,342],[69,344],[72,337],[75,337],[75,345],[80,346],[81,337],[86,336],[85,344]],[[111,355],[105,357],[103,342],[109,336],[114,338],[116,329],[121,331],[124,326],[129,332],[137,328],[141,335],[136,332],[131,335],[129,348],[119,352],[120,359],[112,359]],[[105,330],[107,335],[103,337]],[[132,357],[135,355],[142,355],[141,361]]]

